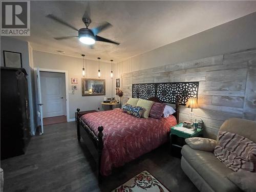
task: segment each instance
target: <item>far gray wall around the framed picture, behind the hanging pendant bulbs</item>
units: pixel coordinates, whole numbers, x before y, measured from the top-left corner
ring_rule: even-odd
[[[106,95],[103,96],[82,96],[81,90],[81,77],[82,77],[82,58],[70,57],[60,54],[52,54],[40,51],[33,51],[34,67],[66,70],[68,71],[68,89],[71,91],[71,78],[78,78],[78,90],[75,94],[69,94],[69,114],[70,119],[75,118],[75,112],[77,108],[81,111],[102,110],[104,97],[112,97],[113,92],[113,79],[110,78],[111,64],[106,62],[100,62],[101,78],[106,80]],[[98,78],[98,61],[86,60],[86,77]]]

